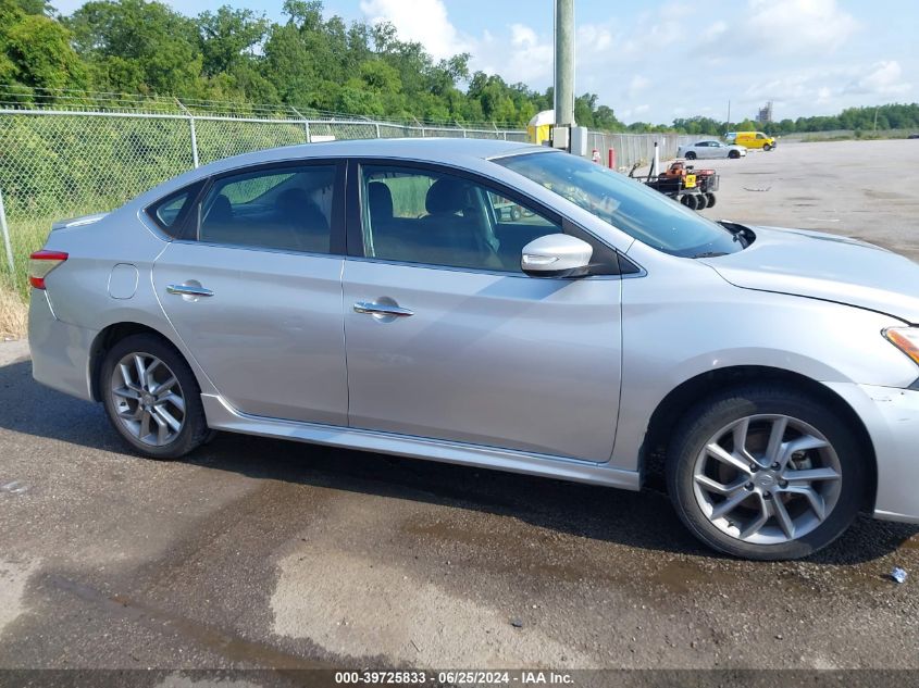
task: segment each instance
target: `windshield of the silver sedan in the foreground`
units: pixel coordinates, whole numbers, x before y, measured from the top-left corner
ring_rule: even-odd
[[[724,227],[637,179],[578,155],[538,152],[494,162],[542,184],[638,241],[671,255],[723,255],[744,248]]]

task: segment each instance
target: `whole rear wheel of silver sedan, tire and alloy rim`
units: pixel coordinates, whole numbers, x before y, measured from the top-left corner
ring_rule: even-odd
[[[201,391],[188,364],[154,335],[126,337],[105,354],[99,388],[109,420],[136,451],[177,459],[209,435]]]

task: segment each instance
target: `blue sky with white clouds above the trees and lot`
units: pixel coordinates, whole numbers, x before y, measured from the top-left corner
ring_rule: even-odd
[[[52,2],[62,13],[79,0]],[[283,0],[171,0],[197,14],[221,4],[282,18]],[[326,0],[327,15],[393,22],[436,58],[536,89],[551,84],[552,0]],[[704,114],[778,118],[919,101],[919,2],[907,0],[575,0],[576,91],[625,122]]]

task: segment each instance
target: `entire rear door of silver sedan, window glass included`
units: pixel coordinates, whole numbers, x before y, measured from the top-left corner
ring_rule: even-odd
[[[347,425],[344,174],[318,161],[214,178],[156,263],[166,316],[238,411]]]

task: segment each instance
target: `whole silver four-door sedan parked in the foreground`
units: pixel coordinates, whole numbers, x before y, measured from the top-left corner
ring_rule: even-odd
[[[919,267],[563,152],[261,151],[57,223],[32,259],[35,378],[148,456],[224,430],[626,489],[661,471],[697,537],[756,559],[859,510],[919,522]]]

